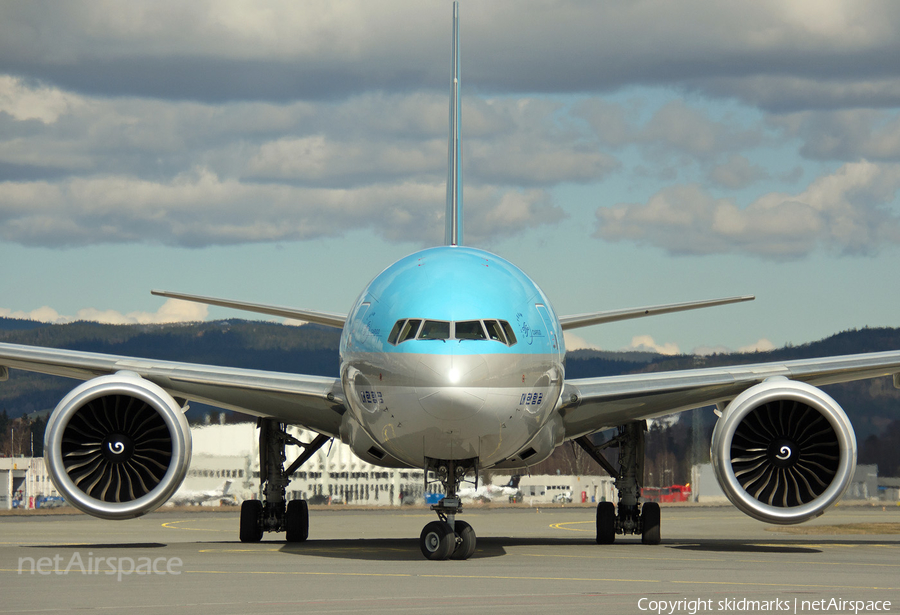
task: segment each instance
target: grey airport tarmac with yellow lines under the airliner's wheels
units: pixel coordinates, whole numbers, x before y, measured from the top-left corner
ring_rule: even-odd
[[[418,536],[434,518],[314,509],[306,543],[242,544],[236,509],[3,516],[0,614],[900,612],[900,534],[792,535],[674,506],[662,544],[601,546],[592,508],[473,508],[475,555],[432,562]],[[838,506],[805,526],[851,523],[887,531],[900,506]]]

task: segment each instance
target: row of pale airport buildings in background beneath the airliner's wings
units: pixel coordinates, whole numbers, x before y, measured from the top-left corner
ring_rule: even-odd
[[[302,442],[315,433],[290,427],[289,433]],[[259,498],[259,439],[254,423],[212,424],[192,429],[193,454],[182,493],[222,489],[228,498],[204,502],[239,503]],[[288,447],[287,464],[299,449]],[[521,470],[518,501],[525,504],[617,501],[612,478],[604,475],[529,475]],[[505,485],[509,475],[494,475],[495,485]],[[886,479],[890,481],[891,479]],[[463,485],[463,488],[474,485]],[[373,466],[353,454],[338,440],[323,446],[297,472],[287,489],[287,499],[305,499],[314,504],[356,504],[400,506],[423,503],[428,494],[441,493],[439,484],[426,488],[425,475],[416,469],[387,469]],[[484,490],[478,493],[484,493]],[[900,484],[882,486],[877,466],[859,465],[845,499],[897,499]],[[0,458],[0,509],[34,508],[45,496],[58,496],[40,457]],[[509,496],[476,495],[476,499],[505,501]],[[432,499],[432,498],[429,498]],[[691,499],[701,503],[726,503],[724,493],[709,464],[694,466]],[[893,500],[891,500],[893,501]]]

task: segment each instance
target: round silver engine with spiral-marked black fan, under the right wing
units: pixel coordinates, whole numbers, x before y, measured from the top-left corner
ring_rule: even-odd
[[[710,457],[719,485],[742,512],[767,523],[802,523],[850,485],[856,435],[824,391],[772,378],[728,404]]]

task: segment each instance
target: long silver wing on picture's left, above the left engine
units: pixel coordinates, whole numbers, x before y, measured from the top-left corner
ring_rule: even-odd
[[[339,378],[0,344],[0,380],[9,368],[78,380],[134,372],[176,399],[275,418],[329,436],[338,435],[344,412]]]

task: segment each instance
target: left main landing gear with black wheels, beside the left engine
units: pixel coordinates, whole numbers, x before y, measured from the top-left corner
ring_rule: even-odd
[[[258,425],[260,499],[241,504],[241,542],[259,542],[263,532],[285,532],[288,542],[303,542],[309,536],[309,507],[306,500],[291,500],[285,506],[287,485],[291,474],[330,438],[320,434],[305,443],[288,434],[283,423],[260,419]],[[302,447],[303,453],[285,470],[288,444]]]

